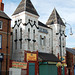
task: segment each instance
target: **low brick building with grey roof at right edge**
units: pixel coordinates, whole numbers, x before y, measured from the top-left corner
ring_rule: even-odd
[[[66,63],[69,75],[75,74],[75,49],[66,48]]]

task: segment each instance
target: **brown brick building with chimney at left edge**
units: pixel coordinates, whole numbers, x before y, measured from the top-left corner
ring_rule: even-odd
[[[11,19],[4,12],[4,3],[0,0],[0,75],[9,70]]]

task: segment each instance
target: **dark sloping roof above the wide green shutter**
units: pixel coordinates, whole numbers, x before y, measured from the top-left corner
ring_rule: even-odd
[[[38,55],[39,55],[39,58],[42,59],[42,61],[60,62],[60,60],[54,54],[39,52]]]

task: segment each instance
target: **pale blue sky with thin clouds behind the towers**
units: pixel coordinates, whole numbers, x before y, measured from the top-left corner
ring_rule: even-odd
[[[11,17],[21,0],[3,0],[5,12]],[[46,23],[54,7],[61,18],[71,25],[73,35],[69,35],[69,26],[66,28],[66,46],[75,47],[75,0],[31,0],[40,15],[39,20]]]

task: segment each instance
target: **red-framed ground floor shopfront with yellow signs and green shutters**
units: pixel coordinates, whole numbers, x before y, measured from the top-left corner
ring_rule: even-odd
[[[10,75],[58,75],[58,62],[53,54],[25,51],[24,62],[12,63]]]

